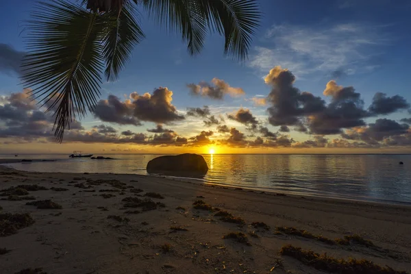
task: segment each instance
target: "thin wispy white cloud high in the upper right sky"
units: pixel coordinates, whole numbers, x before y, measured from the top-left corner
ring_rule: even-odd
[[[277,64],[299,77],[316,72],[369,73],[381,64],[381,48],[388,44],[385,28],[359,23],[273,25],[265,35],[265,44],[271,46],[255,47],[248,65],[268,71]]]

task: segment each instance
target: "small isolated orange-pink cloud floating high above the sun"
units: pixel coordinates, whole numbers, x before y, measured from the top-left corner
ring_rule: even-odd
[[[233,88],[224,82],[224,80],[213,78],[211,82],[214,86],[207,82],[200,82],[199,84],[188,84],[187,87],[192,95],[208,97],[216,100],[222,100],[225,95],[229,95],[230,97],[245,95],[242,88]]]

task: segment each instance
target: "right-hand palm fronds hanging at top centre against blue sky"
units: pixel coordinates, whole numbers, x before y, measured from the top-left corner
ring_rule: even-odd
[[[207,30],[211,29],[225,36],[225,54],[245,60],[261,17],[256,0],[143,0],[142,3],[162,26],[182,33],[192,55],[201,51]]]

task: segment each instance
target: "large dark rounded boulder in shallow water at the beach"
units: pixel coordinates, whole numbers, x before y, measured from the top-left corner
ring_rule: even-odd
[[[206,174],[208,166],[198,154],[166,155],[154,158],[147,164],[148,173],[197,173]]]

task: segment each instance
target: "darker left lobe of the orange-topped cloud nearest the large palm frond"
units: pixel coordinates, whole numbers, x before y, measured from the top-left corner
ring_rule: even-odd
[[[135,105],[129,99],[124,102],[114,95],[108,95],[108,99],[97,103],[94,115],[104,122],[117,123],[119,125],[141,125],[134,116]]]

